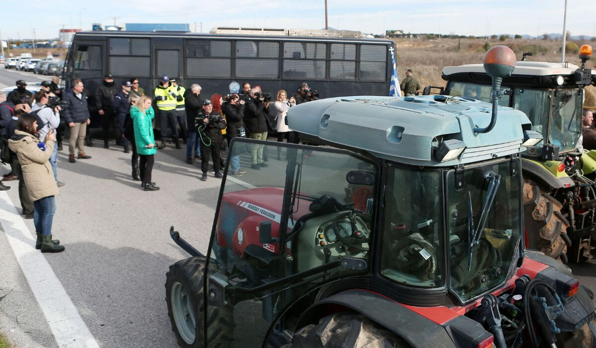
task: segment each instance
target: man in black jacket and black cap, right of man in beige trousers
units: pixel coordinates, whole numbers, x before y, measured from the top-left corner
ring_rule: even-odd
[[[120,129],[118,128],[116,115],[114,115],[114,110],[112,109],[116,93],[118,93],[118,90],[116,84],[114,84],[114,77],[111,73],[105,74],[103,83],[95,90],[95,106],[97,106],[97,113],[101,116],[104,147],[106,149],[110,147],[108,141],[110,141],[111,129],[114,130],[116,144],[121,144]]]

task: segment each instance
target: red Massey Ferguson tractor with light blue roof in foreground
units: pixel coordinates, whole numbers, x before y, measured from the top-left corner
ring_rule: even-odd
[[[520,153],[542,135],[498,107],[515,64],[486,53],[492,104],[330,98],[290,109],[290,143],[235,138],[228,161],[269,161],[224,176],[207,255],[170,229],[179,345],[593,347],[591,292],[525,248]]]

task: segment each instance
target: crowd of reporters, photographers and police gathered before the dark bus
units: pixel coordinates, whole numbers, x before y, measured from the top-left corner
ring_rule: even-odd
[[[68,133],[68,161],[91,159],[85,146],[94,146],[88,132],[91,113],[83,81],[76,79],[72,88],[63,91],[60,80],[41,83],[33,94],[23,80],[5,95],[0,91],[0,156],[10,164],[10,173],[0,180],[0,190],[8,190],[5,181],[18,180],[18,193],[24,218],[33,218],[38,236],[36,248],[42,252],[60,252],[64,246],[52,239],[52,219],[56,211],[58,187],[58,152],[63,149],[63,134]],[[95,90],[95,107],[100,116],[104,147],[110,147],[114,134],[117,146],[131,155],[131,178],[141,181],[145,191],[159,190],[151,172],[158,149],[166,146],[168,133],[173,146],[186,144],[186,162],[201,161],[200,180],[206,181],[209,162],[216,178],[222,178],[225,153],[235,137],[267,140],[277,133],[277,141],[288,141],[291,131],[285,117],[290,107],[318,99],[318,93],[303,83],[288,98],[285,90],[263,93],[260,86],[244,82],[229,94],[213,94],[201,98],[201,86],[188,89],[177,78],[162,76],[154,89],[154,98],[147,96],[137,78],[122,81],[119,88],[111,74]],[[154,106],[153,106],[154,105]],[[156,113],[159,131],[155,129]],[[269,115],[274,118],[269,119]],[[69,130],[68,132],[66,130]],[[158,135],[159,141],[156,141]],[[267,154],[262,144],[251,144],[250,170],[267,167]],[[76,153],[75,153],[76,150]],[[277,153],[281,160],[281,152]],[[230,175],[241,177],[247,169],[240,166],[240,155],[232,155]]]

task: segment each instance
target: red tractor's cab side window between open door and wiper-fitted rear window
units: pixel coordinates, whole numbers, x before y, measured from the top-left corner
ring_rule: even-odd
[[[387,170],[381,275],[415,287],[445,284],[440,173]]]

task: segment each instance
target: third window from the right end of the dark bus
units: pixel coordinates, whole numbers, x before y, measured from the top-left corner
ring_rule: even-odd
[[[314,42],[284,42],[284,78],[325,79],[326,47]]]

